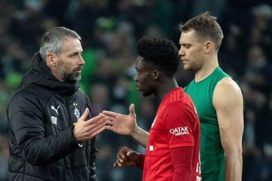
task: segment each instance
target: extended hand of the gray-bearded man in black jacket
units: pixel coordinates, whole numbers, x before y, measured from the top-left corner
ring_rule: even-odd
[[[90,140],[105,130],[104,126],[108,119],[105,115],[101,114],[86,120],[88,115],[89,109],[86,108],[73,130],[74,136],[78,142]]]

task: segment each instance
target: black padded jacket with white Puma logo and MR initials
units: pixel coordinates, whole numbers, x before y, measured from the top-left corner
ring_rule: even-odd
[[[95,138],[78,143],[73,135],[86,108],[78,82],[57,80],[35,53],[8,107],[9,180],[95,180]]]

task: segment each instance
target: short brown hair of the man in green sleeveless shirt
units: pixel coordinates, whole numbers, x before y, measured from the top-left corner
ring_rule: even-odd
[[[190,29],[195,30],[198,40],[206,41],[211,39],[215,44],[215,49],[219,50],[224,35],[220,25],[217,23],[217,18],[211,16],[209,11],[191,18],[185,24],[179,25],[181,32],[186,32]]]

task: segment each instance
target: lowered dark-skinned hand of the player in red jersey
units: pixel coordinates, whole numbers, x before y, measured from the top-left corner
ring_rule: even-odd
[[[118,151],[117,158],[113,163],[113,166],[140,165],[141,162],[142,155],[140,153],[137,153],[124,146]]]

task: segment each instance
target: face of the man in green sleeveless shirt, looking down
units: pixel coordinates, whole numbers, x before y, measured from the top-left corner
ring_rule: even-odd
[[[205,61],[205,44],[197,40],[194,30],[182,32],[179,38],[179,56],[185,70],[197,71]]]

